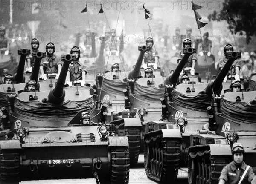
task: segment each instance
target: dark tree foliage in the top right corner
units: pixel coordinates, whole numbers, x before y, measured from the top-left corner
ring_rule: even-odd
[[[251,36],[256,36],[256,1],[225,0],[222,4],[220,11],[214,11],[208,15],[209,21],[227,20],[231,33],[246,35],[248,44]]]

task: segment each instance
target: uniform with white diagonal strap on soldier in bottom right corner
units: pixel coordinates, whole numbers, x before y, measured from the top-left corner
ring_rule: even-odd
[[[242,165],[237,168],[235,162],[232,161],[230,162],[230,164],[227,164],[225,167],[223,167],[220,179],[225,180],[226,182],[228,182],[228,184],[238,184],[241,176],[244,174],[246,167],[247,165],[243,162]],[[251,184],[253,177],[253,169],[250,167],[241,184]]]

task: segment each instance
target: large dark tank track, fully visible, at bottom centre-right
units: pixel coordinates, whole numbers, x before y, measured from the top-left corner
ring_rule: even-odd
[[[160,183],[176,180],[180,167],[180,140],[157,135],[145,140],[144,146],[147,177]]]

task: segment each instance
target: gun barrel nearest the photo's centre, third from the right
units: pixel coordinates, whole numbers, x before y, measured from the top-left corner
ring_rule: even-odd
[[[134,66],[134,69],[128,74],[128,78],[137,79],[140,76],[140,67],[143,61],[143,57],[146,51],[148,51],[148,46],[139,46],[140,55],[137,59],[137,62]]]

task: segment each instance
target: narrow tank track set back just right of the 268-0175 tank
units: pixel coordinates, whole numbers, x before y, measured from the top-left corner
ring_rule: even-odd
[[[125,127],[125,135],[129,141],[130,165],[134,167],[138,163],[140,155],[140,129],[137,127]]]

